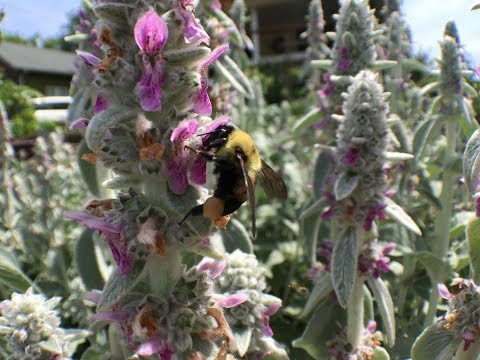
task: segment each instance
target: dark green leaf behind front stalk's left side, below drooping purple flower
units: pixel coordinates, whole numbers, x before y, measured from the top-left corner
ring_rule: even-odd
[[[75,243],[74,261],[87,289],[102,289],[105,284],[97,263],[93,231],[85,229]]]

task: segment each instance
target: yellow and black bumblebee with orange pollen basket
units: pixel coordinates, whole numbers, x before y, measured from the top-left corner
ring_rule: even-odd
[[[287,187],[282,177],[261,159],[257,146],[247,133],[222,125],[204,134],[199,149],[189,149],[214,162],[213,172],[218,175],[218,181],[213,196],[192,208],[180,224],[189,215],[219,220],[235,212],[248,199],[255,237],[255,181],[259,180],[270,198],[287,199]]]

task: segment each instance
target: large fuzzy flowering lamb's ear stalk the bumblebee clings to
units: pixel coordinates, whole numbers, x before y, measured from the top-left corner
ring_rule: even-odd
[[[271,339],[267,321],[279,299],[266,297],[260,304],[252,298],[259,318],[231,326],[227,309],[235,313],[248,304],[254,285],[216,287],[227,264],[214,246],[214,224],[191,216],[179,225],[207,195],[201,186],[206,161],[188,148],[232,121],[228,115],[211,117],[215,106],[208,94],[208,69],[222,56],[225,61],[229,45],[226,38],[210,36],[197,17],[207,13],[228,22],[217,3],[202,2],[197,9],[190,0],[91,6],[102,54],[78,55],[90,70],[86,76],[93,78],[96,101],[93,116],[77,118],[72,126],[86,127],[90,152],[83,160],[108,169],[103,185],[114,195],[92,200],[69,217],[99,232],[116,264],[103,290],[89,295],[97,304],[95,320],[108,327],[113,357],[288,357]],[[231,78],[238,79],[240,69],[233,70],[238,74]],[[220,218],[215,225],[227,222]],[[249,242],[244,233],[233,233],[239,247]],[[255,296],[265,297],[264,289]],[[93,342],[89,351],[100,346]]]

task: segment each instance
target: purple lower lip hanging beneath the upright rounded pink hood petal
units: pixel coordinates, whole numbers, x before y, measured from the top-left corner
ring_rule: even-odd
[[[136,94],[140,99],[140,106],[145,111],[159,111],[162,108],[163,69],[161,62],[153,66],[144,59],[144,73],[137,84]]]

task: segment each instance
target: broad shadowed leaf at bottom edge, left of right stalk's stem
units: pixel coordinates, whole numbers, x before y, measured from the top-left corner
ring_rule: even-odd
[[[292,345],[304,349],[316,360],[329,359],[327,341],[332,339],[332,326],[337,323],[339,315],[338,308],[331,301],[324,301],[313,314],[302,336],[294,340]]]

